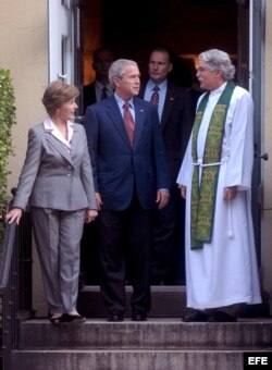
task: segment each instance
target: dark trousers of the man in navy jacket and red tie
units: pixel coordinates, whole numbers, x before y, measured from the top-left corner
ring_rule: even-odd
[[[99,254],[101,260],[101,293],[110,314],[122,314],[126,308],[126,258],[133,286],[132,311],[150,309],[150,211],[144,210],[133,197],[123,211],[101,210]]]

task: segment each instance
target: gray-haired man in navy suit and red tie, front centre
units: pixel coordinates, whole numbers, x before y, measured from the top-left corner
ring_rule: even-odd
[[[169,199],[169,174],[156,107],[137,98],[138,65],[120,59],[109,71],[112,97],[88,107],[86,133],[92,163],[101,260],[101,292],[109,321],[122,321],[125,250],[131,264],[132,319],[150,309],[150,211]]]

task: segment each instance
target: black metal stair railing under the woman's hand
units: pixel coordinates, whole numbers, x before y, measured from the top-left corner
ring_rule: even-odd
[[[12,370],[12,350],[18,348],[20,320],[30,317],[32,308],[32,224],[25,212],[20,225],[5,226],[0,264],[1,362]]]

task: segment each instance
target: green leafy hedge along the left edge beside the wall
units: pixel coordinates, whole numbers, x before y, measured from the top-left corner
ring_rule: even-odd
[[[4,214],[9,199],[9,156],[14,155],[12,126],[16,123],[15,110],[15,97],[10,71],[0,69],[0,240],[3,237]]]

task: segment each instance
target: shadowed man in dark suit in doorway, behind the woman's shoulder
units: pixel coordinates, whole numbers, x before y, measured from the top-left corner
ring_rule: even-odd
[[[92,69],[96,79],[83,88],[83,111],[87,107],[108,98],[113,94],[113,87],[109,82],[109,67],[113,62],[113,53],[110,49],[101,47],[92,54]]]

